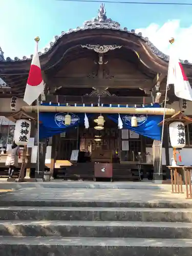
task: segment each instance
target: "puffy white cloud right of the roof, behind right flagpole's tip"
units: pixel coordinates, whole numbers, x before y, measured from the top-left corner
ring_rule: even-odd
[[[167,55],[169,55],[170,47],[168,40],[174,37],[174,48],[178,57],[192,62],[192,25],[188,28],[181,28],[180,20],[170,20],[162,27],[151,24],[147,28],[136,29],[136,33],[139,32],[142,32],[144,37],[148,37],[160,51]]]

